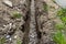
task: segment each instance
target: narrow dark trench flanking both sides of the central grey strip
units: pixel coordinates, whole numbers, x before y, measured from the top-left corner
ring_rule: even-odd
[[[31,2],[31,1],[30,1]],[[40,1],[38,1],[40,2]],[[31,6],[31,3],[30,3],[30,6]],[[46,18],[47,18],[47,11],[38,11],[38,6],[37,6],[37,1],[35,1],[35,23],[36,23],[36,25],[35,25],[35,29],[36,29],[36,34],[37,34],[37,44],[44,44],[44,42],[42,42],[41,40],[42,40],[42,34],[43,34],[43,32],[41,32],[40,30],[42,30],[42,24],[41,24],[41,21],[38,20],[38,18],[41,16],[41,14],[42,15],[45,15]],[[43,6],[43,3],[42,3],[42,6]],[[44,4],[44,6],[46,6],[46,3]],[[29,44],[29,32],[30,32],[30,13],[31,11],[30,11],[30,7],[29,7],[29,11],[26,12],[26,19],[25,19],[25,24],[23,25],[23,32],[24,32],[24,37],[23,37],[23,43],[22,44]],[[45,14],[44,14],[44,13]],[[46,21],[44,21],[44,22],[46,22]]]

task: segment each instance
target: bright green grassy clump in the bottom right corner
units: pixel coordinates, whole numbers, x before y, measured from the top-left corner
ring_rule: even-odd
[[[66,44],[66,37],[61,31],[55,33],[53,41],[56,42],[56,44]]]

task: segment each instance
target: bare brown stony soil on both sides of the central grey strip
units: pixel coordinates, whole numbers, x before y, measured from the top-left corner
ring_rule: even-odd
[[[30,23],[30,0],[10,0],[13,7],[9,7],[0,0],[0,37],[6,37],[4,44],[28,44],[29,23]],[[48,7],[48,11],[44,7]],[[54,23],[61,22],[56,18],[55,12],[58,6],[52,0],[35,0],[35,21],[37,44],[54,44],[52,34],[54,32]],[[20,19],[13,19],[12,12],[20,12]],[[34,32],[32,32],[34,33]]]

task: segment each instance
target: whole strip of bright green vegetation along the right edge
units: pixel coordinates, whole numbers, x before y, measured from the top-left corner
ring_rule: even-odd
[[[66,44],[66,36],[62,31],[66,29],[66,9],[61,9],[57,11],[57,16],[62,20],[63,24],[55,24],[57,32],[53,36],[53,41],[56,44]]]

